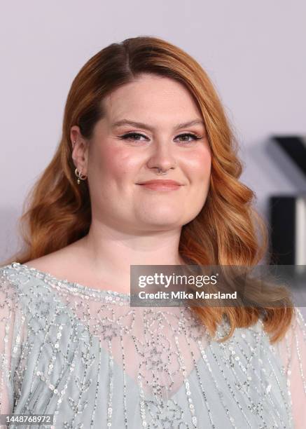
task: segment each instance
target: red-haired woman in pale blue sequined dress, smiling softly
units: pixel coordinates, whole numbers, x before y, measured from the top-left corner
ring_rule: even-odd
[[[27,247],[1,268],[2,414],[303,427],[306,329],[287,290],[263,311],[130,306],[131,265],[258,264],[267,233],[241,172],[218,95],[183,50],[135,37],[83,66],[22,217]],[[144,185],[156,179],[178,186]]]

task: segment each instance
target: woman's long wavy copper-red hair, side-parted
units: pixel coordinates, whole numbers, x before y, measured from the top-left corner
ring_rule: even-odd
[[[22,250],[4,264],[25,264],[87,235],[91,223],[90,193],[87,182],[76,184],[71,127],[78,125],[83,137],[90,139],[95,124],[104,117],[104,97],[144,73],[167,76],[188,88],[202,112],[211,148],[209,193],[201,212],[182,227],[181,257],[188,264],[224,266],[256,266],[264,257],[267,225],[253,207],[255,193],[239,181],[242,162],[237,155],[237,139],[216,89],[200,64],[181,48],[156,37],[139,36],[100,50],[72,82],[60,144],[23,206],[19,223],[24,240]],[[269,290],[264,298],[258,295],[258,300],[260,306],[192,308],[212,335],[226,316],[230,332],[223,340],[236,327],[256,323],[264,311],[264,329],[274,343],[284,336],[291,323],[291,297],[281,286]]]

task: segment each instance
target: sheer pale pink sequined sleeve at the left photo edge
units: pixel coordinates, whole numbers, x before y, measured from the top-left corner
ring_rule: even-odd
[[[15,368],[25,334],[24,316],[15,288],[0,268],[0,414],[12,414],[16,396]],[[0,428],[6,428],[1,425]]]

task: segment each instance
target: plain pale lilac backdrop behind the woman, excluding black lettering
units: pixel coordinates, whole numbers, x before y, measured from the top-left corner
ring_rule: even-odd
[[[207,70],[260,212],[271,193],[305,193],[305,178],[269,142],[271,134],[306,135],[305,15],[302,0],[2,4],[0,259],[18,245],[16,221],[59,142],[71,81],[98,50],[127,37],[162,37]]]

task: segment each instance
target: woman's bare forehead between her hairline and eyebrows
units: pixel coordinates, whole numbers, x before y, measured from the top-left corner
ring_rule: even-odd
[[[103,100],[106,121],[133,115],[135,120],[184,121],[201,117],[193,95],[182,83],[163,76],[144,74],[113,90]]]

